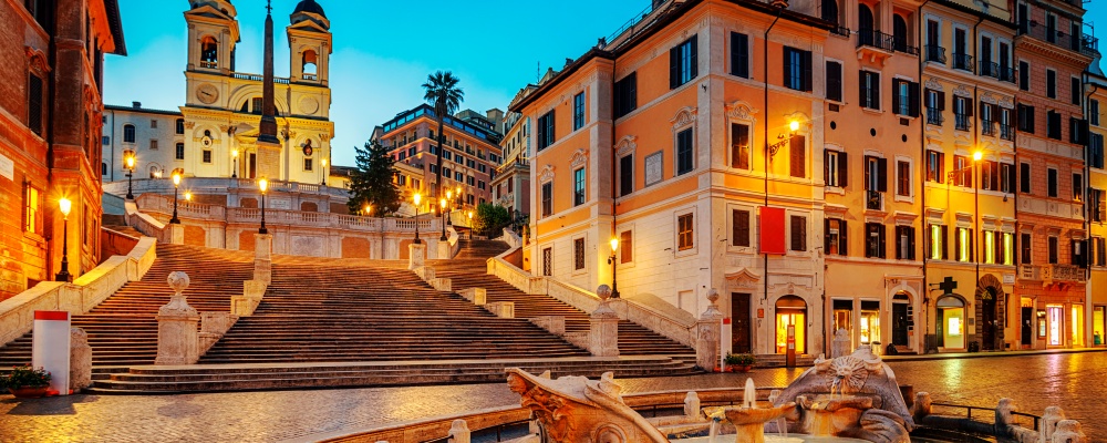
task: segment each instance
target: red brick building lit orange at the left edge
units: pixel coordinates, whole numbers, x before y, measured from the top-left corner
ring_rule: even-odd
[[[0,300],[100,261],[104,54],[126,54],[116,0],[0,1]]]

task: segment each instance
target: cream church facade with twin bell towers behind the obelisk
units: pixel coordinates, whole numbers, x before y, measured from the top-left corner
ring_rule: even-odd
[[[330,21],[314,0],[297,4],[286,28],[290,78],[277,78],[279,163],[259,162],[262,76],[235,70],[237,11],[227,0],[190,0],[184,114],[185,176],[322,184],[331,157]],[[142,157],[143,153],[138,153]],[[269,169],[269,171],[267,171]]]

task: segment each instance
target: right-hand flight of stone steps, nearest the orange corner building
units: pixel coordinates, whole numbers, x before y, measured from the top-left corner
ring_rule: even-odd
[[[515,317],[530,319],[541,316],[563,316],[566,332],[588,331],[589,318],[583,311],[550,296],[528,295],[487,274],[486,259],[508,249],[503,241],[473,240],[462,244],[453,260],[428,260],[436,277],[452,279],[455,291],[485,288],[488,302],[511,301]],[[463,258],[462,254],[466,254]],[[695,350],[628,320],[619,322],[619,353],[622,356],[694,356]],[[692,359],[694,360],[694,359]]]

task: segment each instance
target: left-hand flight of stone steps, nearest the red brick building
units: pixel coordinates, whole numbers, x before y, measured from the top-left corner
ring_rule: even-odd
[[[86,315],[73,316],[73,326],[89,333],[95,367],[153,364],[157,357],[157,309],[173,291],[166,277],[185,271],[192,280],[188,303],[200,312],[230,311],[230,296],[242,293],[242,280],[252,278],[248,253],[192,246],[157,245],[157,259],[139,281],[123,286]],[[213,266],[217,262],[218,266]],[[0,367],[31,362],[31,333],[0,348]]]

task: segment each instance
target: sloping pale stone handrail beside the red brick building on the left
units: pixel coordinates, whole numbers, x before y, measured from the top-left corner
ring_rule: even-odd
[[[34,311],[63,310],[86,313],[127,281],[141,280],[157,257],[154,238],[143,237],[125,256],[112,256],[73,280],[42,281],[15,297],[0,301],[0,343],[9,343],[34,326]]]

